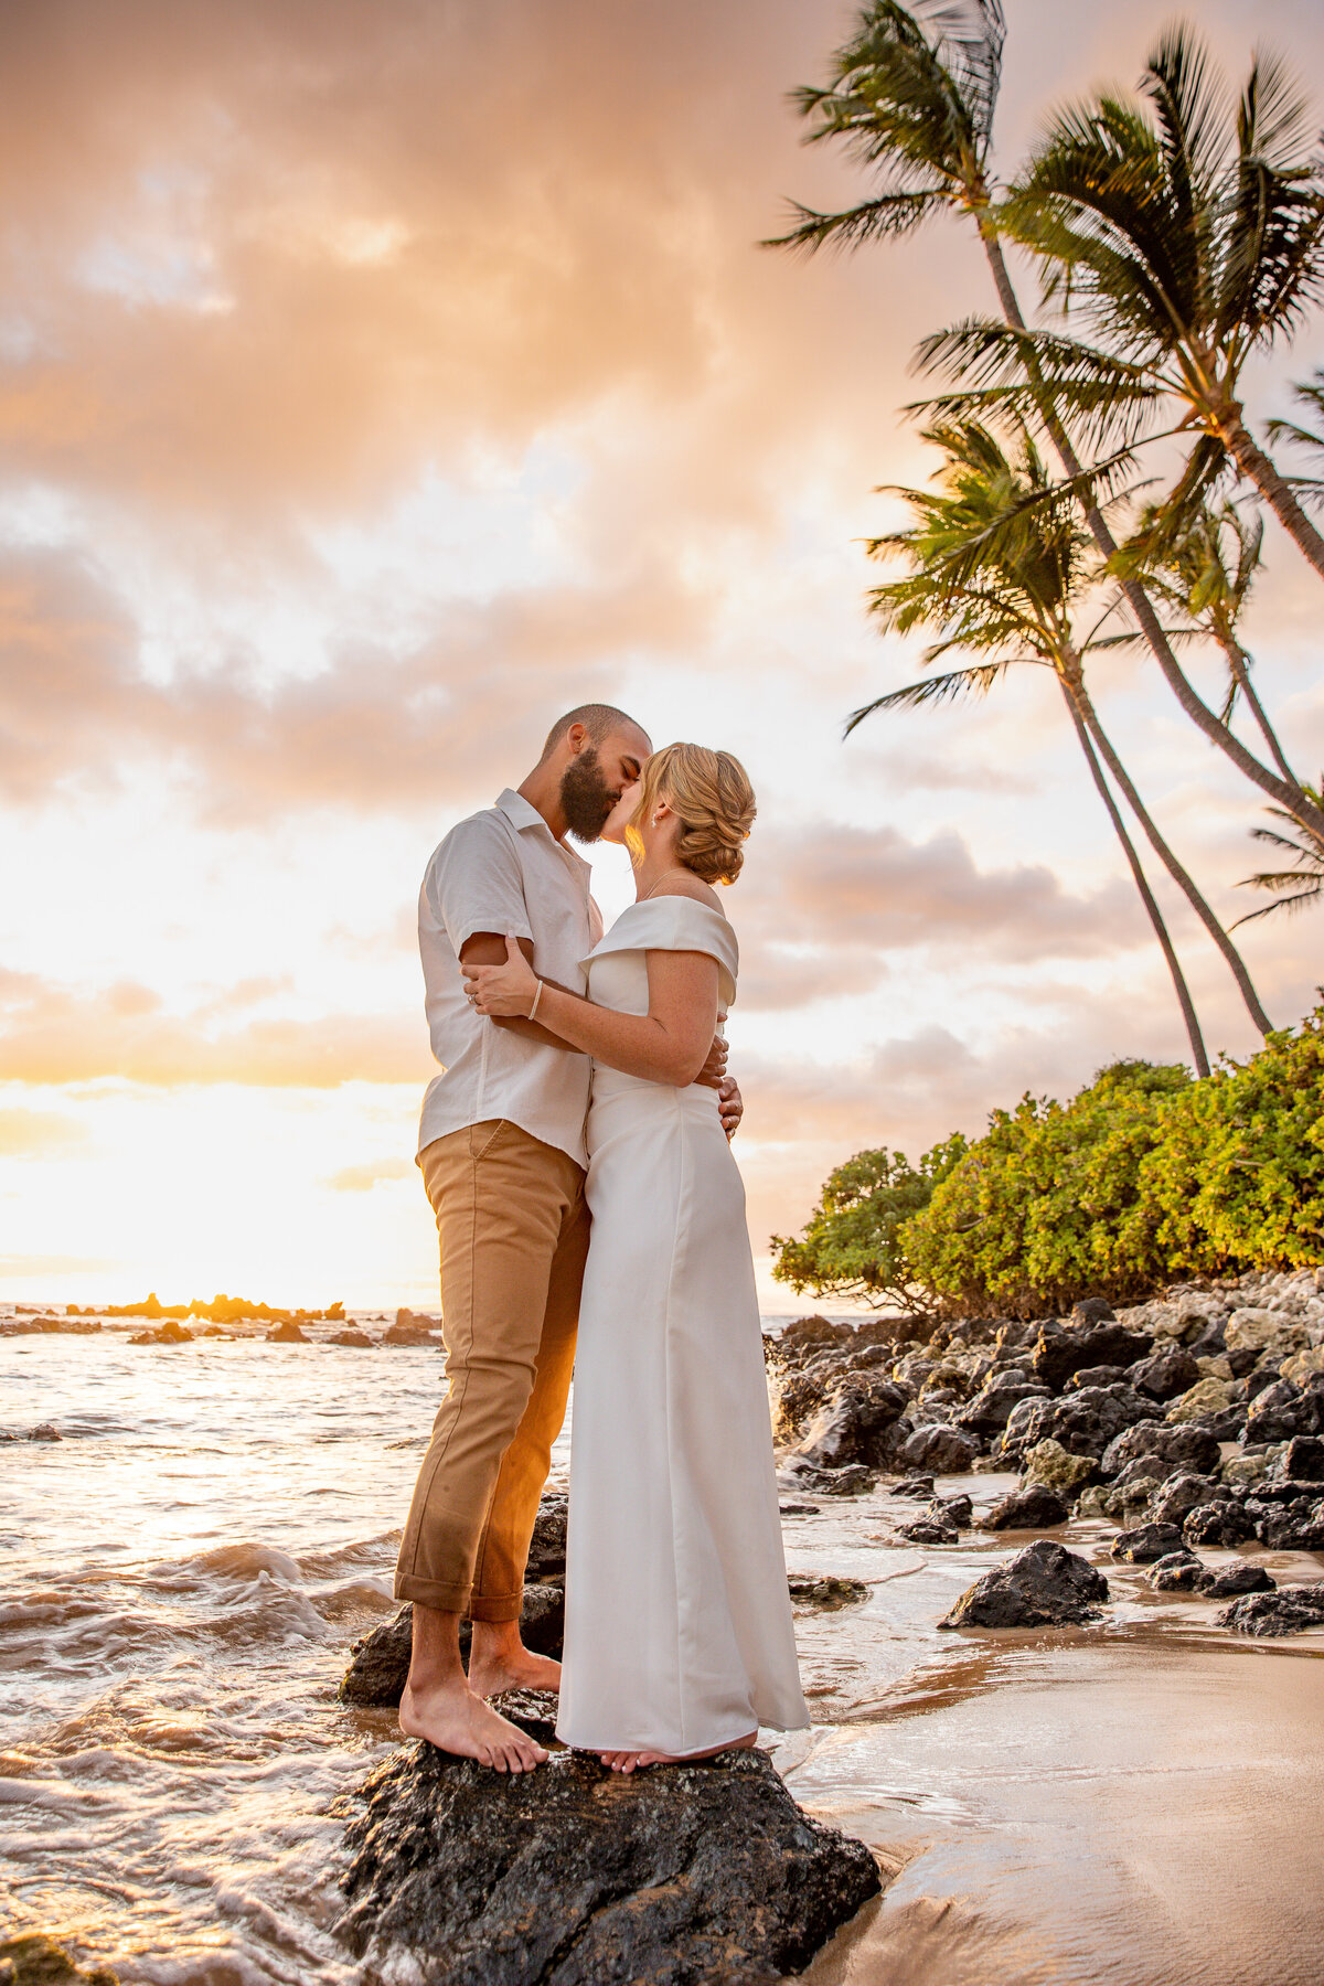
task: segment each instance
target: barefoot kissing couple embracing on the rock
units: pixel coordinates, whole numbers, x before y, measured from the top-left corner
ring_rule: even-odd
[[[508,1688],[560,1690],[558,1736],[619,1772],[810,1722],[721,1037],[738,953],[713,886],[752,820],[728,753],[653,753],[584,705],[423,880],[447,1396],[395,1573],[401,1730],[498,1772],[546,1758],[488,1702]],[[605,935],[568,834],[629,848],[637,900]],[[572,1366],[556,1664],[520,1605]]]

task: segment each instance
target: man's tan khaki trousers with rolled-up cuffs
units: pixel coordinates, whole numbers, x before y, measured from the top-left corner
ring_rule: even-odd
[[[470,1124],[419,1158],[441,1237],[447,1398],[419,1470],[395,1597],[518,1621],[562,1432],[588,1253],[584,1172],[518,1124]]]

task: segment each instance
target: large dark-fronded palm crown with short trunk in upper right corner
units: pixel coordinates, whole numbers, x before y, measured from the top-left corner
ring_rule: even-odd
[[[1177,500],[1231,461],[1324,574],[1324,536],[1239,397],[1247,361],[1298,330],[1324,290],[1324,159],[1308,105],[1282,62],[1257,54],[1229,119],[1185,26],[1159,36],[1139,95],[1062,111],[1000,211],[1042,260],[1046,296],[1070,298],[1100,340],[1054,340],[1054,397],[1096,421],[1175,401],[1199,437]]]

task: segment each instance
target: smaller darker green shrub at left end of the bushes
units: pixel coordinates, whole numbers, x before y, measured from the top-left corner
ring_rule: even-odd
[[[856,1152],[828,1174],[798,1239],[772,1235],[772,1275],[796,1291],[863,1297],[865,1303],[925,1307],[915,1287],[901,1227],[927,1207],[933,1190],[961,1162],[969,1142],[957,1132],[911,1166],[905,1152]]]

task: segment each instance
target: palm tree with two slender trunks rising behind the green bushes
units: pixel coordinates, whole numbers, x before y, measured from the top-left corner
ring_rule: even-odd
[[[1096,576],[1098,560],[1092,560],[1090,538],[1076,520],[1076,506],[1054,491],[1024,429],[1014,461],[989,429],[975,421],[931,427],[925,439],[941,447],[947,457],[939,471],[939,489],[897,493],[907,500],[915,522],[907,530],[875,538],[869,552],[875,558],[905,558],[909,570],[903,578],[877,586],[869,594],[869,608],[883,628],[897,634],[913,628],[937,630],[939,639],[925,651],[927,663],[939,661],[951,649],[993,653],[996,659],[927,675],[919,683],[875,697],[854,713],[848,731],[875,711],[913,709],[957,695],[987,695],[1006,669],[1018,663],[1050,667],[1167,961],[1195,1066],[1199,1074],[1207,1074],[1209,1059],[1185,977],[1104,779],[1100,757],[1165,868],[1205,918],[1264,1033],[1268,1017],[1255,999],[1237,947],[1159,834],[1094,709],[1082,663],[1090,643],[1076,641],[1072,616]]]

